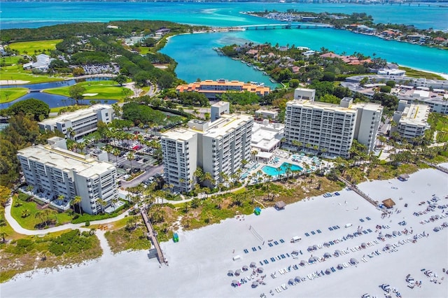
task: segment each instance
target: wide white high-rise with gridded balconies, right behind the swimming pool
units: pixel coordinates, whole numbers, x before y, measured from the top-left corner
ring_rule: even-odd
[[[342,99],[339,105],[304,99],[288,101],[286,146],[349,157],[356,139],[373,150],[382,110],[379,104],[353,104],[351,98]]]

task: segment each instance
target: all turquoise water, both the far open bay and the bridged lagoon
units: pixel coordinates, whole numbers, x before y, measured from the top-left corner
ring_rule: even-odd
[[[428,6],[430,5],[430,6]],[[206,26],[237,26],[278,22],[242,14],[248,10],[295,9],[328,13],[361,13],[374,22],[414,24],[419,28],[448,29],[448,4],[359,5],[338,3],[179,3],[179,2],[3,2],[0,27],[41,27],[67,22],[107,22],[109,20],[168,20]],[[442,5],[442,7],[438,7]],[[373,36],[335,29],[249,30],[215,34],[175,36],[162,50],[179,62],[179,78],[194,82],[197,78],[257,81],[274,87],[267,76],[241,62],[220,57],[216,46],[245,42],[306,46],[312,50],[328,48],[339,54],[361,52],[381,57],[402,66],[439,73],[448,72],[448,51],[421,45],[384,41]]]

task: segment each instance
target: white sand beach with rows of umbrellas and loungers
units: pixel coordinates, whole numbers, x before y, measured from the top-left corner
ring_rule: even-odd
[[[407,182],[399,180],[374,181],[358,185],[361,190],[370,194],[374,199],[383,200],[391,197],[402,213],[393,213],[391,218],[381,219],[381,213],[374,206],[368,204],[353,191],[342,191],[338,197],[316,197],[308,201],[300,201],[286,206],[283,211],[274,208],[263,209],[260,216],[245,216],[244,220],[232,218],[219,225],[212,225],[190,232],[180,232],[179,243],[169,241],[162,243],[162,250],[169,261],[169,267],[159,268],[157,260],[148,260],[147,252],[120,253],[111,255],[106,253],[101,259],[87,265],[80,265],[72,269],[62,269],[45,274],[36,271],[34,274],[22,274],[14,281],[1,285],[2,297],[259,297],[264,292],[270,297],[269,290],[275,296],[281,297],[360,297],[364,293],[371,296],[383,297],[379,288],[382,283],[389,283],[398,288],[402,297],[447,297],[448,287],[446,274],[442,268],[448,268],[448,229],[433,232],[435,226],[440,226],[448,218],[419,224],[423,219],[437,211],[416,217],[414,211],[421,211],[425,206],[418,206],[419,201],[426,201],[436,194],[440,197],[439,205],[448,204],[444,199],[448,194],[448,175],[433,169],[426,169],[411,175]],[[397,187],[398,189],[392,189]],[[400,197],[403,197],[400,200]],[[346,203],[345,203],[346,202]],[[408,207],[405,208],[404,204]],[[444,209],[447,211],[447,209]],[[371,220],[366,220],[369,216]],[[360,222],[363,218],[365,222]],[[394,253],[386,253],[382,248],[386,243],[396,243],[409,238],[402,234],[396,238],[379,241],[365,250],[340,257],[330,257],[325,262],[291,269],[287,274],[280,274],[284,269],[300,260],[308,260],[311,255],[322,257],[324,253],[344,250],[360,246],[363,242],[374,241],[375,225],[390,225],[391,229],[382,229],[384,233],[393,230],[402,231],[404,227],[398,225],[406,220],[406,228],[412,227],[414,234],[426,231],[428,238],[418,239],[416,243],[405,243],[396,248]],[[346,223],[353,226],[344,228]],[[340,229],[329,231],[328,227],[339,225]],[[331,241],[349,232],[356,231],[358,225],[364,230],[372,229],[372,233],[357,236],[348,241],[342,241],[330,248],[323,247],[312,253],[307,252],[308,246]],[[249,229],[249,227],[253,227]],[[264,239],[265,245],[252,233],[256,230]],[[321,234],[311,234],[311,230],[321,230]],[[310,236],[304,236],[308,232]],[[300,243],[290,243],[292,236],[302,236]],[[269,247],[269,239],[280,243]],[[262,249],[259,250],[258,246]],[[255,252],[252,247],[256,247]],[[244,253],[244,248],[249,253]],[[291,253],[293,249],[302,250],[298,260],[286,257],[271,262],[270,257]],[[235,250],[235,253],[233,253]],[[372,258],[367,254],[379,250],[381,255]],[[234,255],[240,255],[241,260],[233,261]],[[365,255],[368,262],[361,262]],[[288,285],[287,290],[277,293],[275,288],[288,283],[289,278],[295,276],[306,277],[315,271],[325,271],[330,267],[337,267],[339,263],[349,263],[355,257],[359,264],[349,266],[341,271],[304,281],[298,285]],[[266,285],[251,288],[252,281],[232,288],[233,279],[250,275],[251,271],[243,272],[239,278],[227,276],[228,270],[241,269],[243,265],[256,262],[260,266],[261,260],[269,260],[263,265],[265,269]],[[439,276],[444,276],[441,284],[430,283],[429,279],[420,271],[431,269]],[[277,272],[277,278],[270,274]],[[421,288],[413,290],[407,288],[405,276],[412,274],[417,281],[423,281]],[[31,277],[27,277],[31,276]],[[259,277],[258,277],[259,278]],[[440,279],[440,278],[439,278]]]

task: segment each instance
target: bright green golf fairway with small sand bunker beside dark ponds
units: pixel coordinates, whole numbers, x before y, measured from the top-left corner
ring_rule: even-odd
[[[89,99],[124,99],[128,95],[132,94],[130,89],[115,85],[116,83],[111,80],[102,80],[98,82],[83,82],[79,83],[85,87],[85,93],[97,93],[94,96],[86,96],[84,100]],[[70,97],[70,87],[59,87],[53,89],[46,89],[43,92],[50,94],[58,94],[66,97]]]

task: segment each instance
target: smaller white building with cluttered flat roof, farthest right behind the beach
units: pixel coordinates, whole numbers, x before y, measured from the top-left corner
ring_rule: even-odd
[[[409,141],[423,136],[426,129],[430,128],[429,111],[429,106],[424,104],[407,104],[406,101],[399,101],[397,111],[393,113],[393,121],[397,125],[391,127],[391,134],[398,132],[402,138]]]

